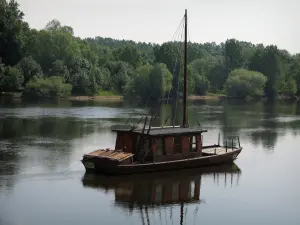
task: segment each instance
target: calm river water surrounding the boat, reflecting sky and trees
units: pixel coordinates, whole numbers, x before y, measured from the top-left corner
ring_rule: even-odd
[[[191,125],[198,120],[208,129],[204,144],[217,142],[219,133],[240,136],[244,149],[234,165],[123,179],[85,174],[84,153],[114,146],[111,125],[150,114],[159,125],[174,111],[170,105],[2,100],[0,224],[299,224],[296,102],[189,104]]]

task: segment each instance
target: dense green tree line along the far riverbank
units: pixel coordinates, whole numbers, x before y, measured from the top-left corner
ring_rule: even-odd
[[[183,86],[183,44],[74,36],[57,20],[30,28],[15,0],[0,0],[0,92],[33,97],[175,97]],[[178,93],[179,90],[179,93]],[[188,92],[234,98],[300,94],[300,55],[228,39],[188,43]]]

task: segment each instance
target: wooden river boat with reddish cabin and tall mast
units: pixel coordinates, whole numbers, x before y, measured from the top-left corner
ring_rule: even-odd
[[[183,168],[196,168],[233,162],[242,151],[238,137],[225,145],[203,146],[207,130],[190,128],[187,119],[187,11],[185,11],[183,123],[181,126],[143,128],[115,126],[115,149],[98,149],[81,160],[87,172],[132,174]],[[238,144],[236,143],[238,141]]]

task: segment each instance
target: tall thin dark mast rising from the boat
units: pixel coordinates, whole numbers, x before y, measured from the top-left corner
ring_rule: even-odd
[[[187,10],[185,10],[185,26],[184,26],[184,87],[183,87],[183,121],[182,126],[188,127],[187,122]]]

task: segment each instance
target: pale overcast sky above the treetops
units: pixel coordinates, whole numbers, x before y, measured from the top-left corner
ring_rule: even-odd
[[[17,0],[25,20],[44,28],[51,19],[73,27],[75,35],[162,43],[172,39],[188,10],[193,42],[276,44],[300,52],[297,0]],[[297,15],[298,14],[298,15]]]

